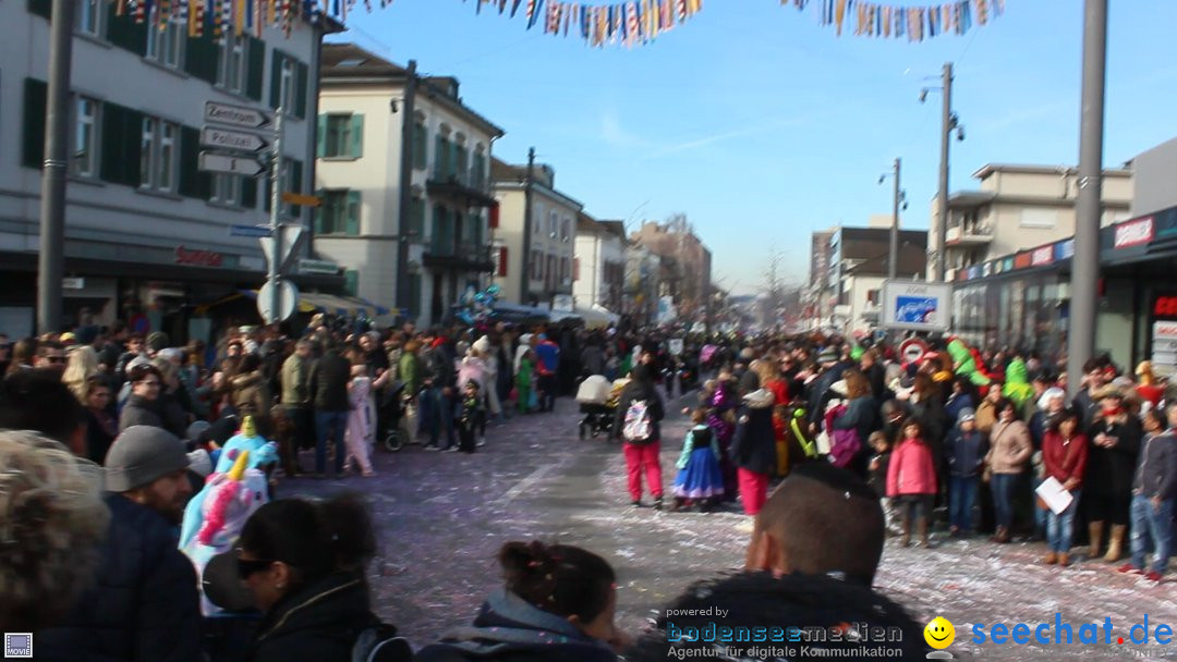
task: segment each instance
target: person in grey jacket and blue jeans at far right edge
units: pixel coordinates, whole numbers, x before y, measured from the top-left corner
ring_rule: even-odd
[[[1165,429],[1168,428],[1168,429]],[[1144,448],[1132,479],[1132,560],[1122,573],[1144,573],[1161,582],[1173,550],[1173,504],[1177,503],[1177,403],[1168,414],[1151,409],[1144,415]],[[1145,573],[1144,555],[1152,544],[1152,567]]]

